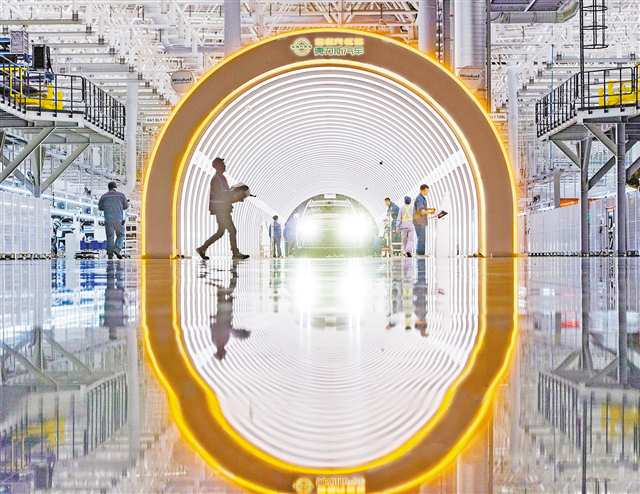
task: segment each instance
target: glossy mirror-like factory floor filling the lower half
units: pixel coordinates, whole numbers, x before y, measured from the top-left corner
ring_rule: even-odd
[[[0,492],[640,492],[639,268],[0,262]]]

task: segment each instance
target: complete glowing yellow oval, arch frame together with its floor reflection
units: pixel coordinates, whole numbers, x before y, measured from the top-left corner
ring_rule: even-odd
[[[317,59],[312,51],[306,53],[301,43],[292,49],[300,37],[313,44],[315,38],[345,36],[363,38],[364,53]],[[177,252],[178,202],[185,167],[219,112],[261,81],[318,65],[352,67],[388,77],[435,109],[458,138],[473,170],[480,252],[485,256],[513,254],[516,195],[511,169],[495,129],[473,95],[442,66],[407,45],[361,31],[317,29],[287,33],[240,50],[207,73],[181,100],[158,136],[146,171],[141,225],[145,257],[166,259]],[[256,492],[286,492],[301,476],[362,474],[374,490],[402,491],[432,478],[455,458],[486,417],[495,387],[506,372],[515,341],[515,321],[492,307],[504,309],[506,303],[514,309],[515,266],[506,260],[499,265],[482,264],[479,337],[467,367],[419,434],[366,465],[324,470],[290,465],[258,450],[233,431],[184,350],[178,323],[177,265],[143,265],[148,356],[168,393],[183,436],[210,465],[238,485]],[[500,275],[499,281],[496,275]],[[172,285],[169,289],[154,279],[171,279]],[[163,316],[158,307],[171,308],[171,317]],[[439,447],[434,448],[435,443]]]

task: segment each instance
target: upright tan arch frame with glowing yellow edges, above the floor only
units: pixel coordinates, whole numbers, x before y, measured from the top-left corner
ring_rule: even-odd
[[[316,57],[296,53],[299,38],[358,37],[364,53]],[[297,49],[292,49],[292,45]],[[516,245],[516,192],[507,154],[480,103],[450,72],[390,38],[349,29],[311,29],[265,39],[209,71],[180,101],[161,130],[146,169],[142,252],[177,253],[177,210],[186,164],[203,131],[231,101],[278,74],[312,66],[346,66],[393,79],[425,100],[449,125],[473,171],[478,192],[478,245],[484,256],[510,256]],[[171,200],[168,200],[171,198]]]

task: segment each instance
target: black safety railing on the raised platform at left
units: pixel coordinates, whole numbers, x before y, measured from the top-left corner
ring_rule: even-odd
[[[25,114],[82,115],[124,139],[125,106],[82,76],[34,71],[0,56],[0,101]]]

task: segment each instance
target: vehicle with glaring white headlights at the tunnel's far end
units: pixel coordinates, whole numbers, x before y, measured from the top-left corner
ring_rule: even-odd
[[[375,224],[346,196],[323,194],[306,202],[298,228],[298,252],[308,255],[369,254]]]

